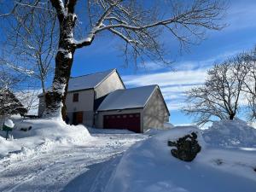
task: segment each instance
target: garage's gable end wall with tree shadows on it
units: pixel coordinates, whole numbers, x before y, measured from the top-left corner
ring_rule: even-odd
[[[169,113],[166,109],[165,101],[160,94],[160,90],[154,90],[145,108],[143,108],[144,131],[149,128],[164,129],[164,123],[168,122]]]

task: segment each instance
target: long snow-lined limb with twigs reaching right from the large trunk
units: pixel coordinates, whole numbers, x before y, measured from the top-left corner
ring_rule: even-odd
[[[164,29],[183,48],[197,44],[206,30],[220,30],[225,26],[218,24],[225,9],[221,1],[166,2],[170,8],[161,13],[157,8],[144,8],[137,1],[89,1],[91,29],[86,38],[73,41],[75,47],[88,46],[97,33],[108,31],[124,40],[125,55],[134,58],[147,55],[149,59],[164,61],[165,51],[159,38]]]

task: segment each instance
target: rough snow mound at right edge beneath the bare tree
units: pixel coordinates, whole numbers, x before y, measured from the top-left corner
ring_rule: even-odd
[[[214,122],[203,132],[206,143],[222,147],[256,147],[256,129],[241,119]]]

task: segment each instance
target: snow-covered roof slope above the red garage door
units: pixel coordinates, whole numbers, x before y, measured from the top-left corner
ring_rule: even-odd
[[[126,90],[115,90],[110,93],[97,111],[108,111],[125,108],[143,108],[158,85],[148,85]]]

